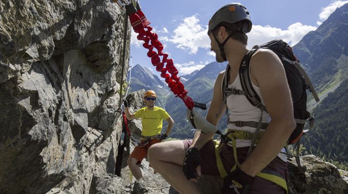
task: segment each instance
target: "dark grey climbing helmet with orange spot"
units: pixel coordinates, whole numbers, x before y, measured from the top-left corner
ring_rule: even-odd
[[[209,20],[208,33],[214,30],[221,22],[235,23],[242,20],[246,20],[247,25],[240,29],[240,31],[246,34],[251,31],[252,26],[247,8],[238,3],[224,5]]]

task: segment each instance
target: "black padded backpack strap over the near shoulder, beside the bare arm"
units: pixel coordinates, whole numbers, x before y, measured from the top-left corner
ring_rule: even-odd
[[[239,74],[240,74],[240,80],[243,90],[246,92],[245,96],[247,97],[250,104],[253,106],[256,106],[259,109],[263,109],[267,112],[265,105],[261,103],[261,100],[259,96],[257,95],[256,91],[252,87],[251,79],[250,79],[250,59],[252,55],[258,50],[257,47],[253,50],[250,50],[243,58]]]

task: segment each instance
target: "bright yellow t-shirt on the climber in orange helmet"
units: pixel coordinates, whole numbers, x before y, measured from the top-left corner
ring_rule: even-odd
[[[154,106],[153,110],[148,110],[147,107],[139,109],[134,113],[137,118],[141,118],[143,136],[153,136],[161,133],[163,119],[167,119],[169,114],[160,107]]]

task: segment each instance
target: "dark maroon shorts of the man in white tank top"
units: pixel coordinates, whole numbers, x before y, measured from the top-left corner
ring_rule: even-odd
[[[192,139],[183,140],[185,150],[192,144]],[[240,163],[243,163],[248,153],[249,147],[237,148],[237,157]],[[201,168],[202,175],[220,176],[219,169],[217,169],[215,147],[213,141],[209,141],[200,150],[200,156],[202,159]],[[234,166],[235,161],[233,157],[233,148],[230,146],[222,147],[220,157],[225,167],[226,172],[230,172]],[[287,180],[288,175],[288,163],[282,161],[279,157],[272,160],[266,168],[267,170],[277,172]],[[249,193],[286,193],[285,189],[279,185],[270,182],[266,179],[255,177]]]

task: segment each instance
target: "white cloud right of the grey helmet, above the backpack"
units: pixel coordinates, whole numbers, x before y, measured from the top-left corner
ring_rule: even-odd
[[[293,46],[308,32],[316,29],[317,27],[302,25],[300,22],[290,25],[287,30],[281,30],[271,26],[255,25],[248,34],[248,48],[250,49],[254,45],[266,43],[273,39],[282,39]]]

